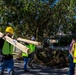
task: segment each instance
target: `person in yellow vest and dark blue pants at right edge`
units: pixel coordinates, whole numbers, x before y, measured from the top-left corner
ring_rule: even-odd
[[[72,40],[72,46],[70,50],[70,69],[68,75],[74,75],[75,71],[75,63],[76,63],[76,41],[75,39]]]

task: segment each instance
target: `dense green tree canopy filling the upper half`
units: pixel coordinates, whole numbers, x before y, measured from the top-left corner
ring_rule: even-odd
[[[17,36],[35,35],[40,41],[44,34],[55,35],[61,31],[75,33],[76,1],[60,0],[0,0],[1,28],[12,25]]]

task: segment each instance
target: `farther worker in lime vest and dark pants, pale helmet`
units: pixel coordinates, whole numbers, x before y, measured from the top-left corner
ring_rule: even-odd
[[[35,41],[35,37],[32,37],[31,40]],[[32,64],[33,64],[33,60],[34,60],[34,53],[35,53],[35,50],[36,50],[36,46],[34,44],[30,44],[29,47],[30,47],[30,54],[29,54],[28,66],[30,68],[33,68]]]

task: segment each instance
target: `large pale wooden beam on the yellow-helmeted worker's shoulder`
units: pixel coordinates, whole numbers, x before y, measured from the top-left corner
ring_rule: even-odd
[[[2,37],[4,34],[0,32],[0,37]],[[21,43],[19,43],[18,41],[14,42],[14,39],[8,37],[8,36],[5,36],[3,38],[4,40],[6,40],[7,42],[9,42],[10,44],[12,44],[13,46],[17,47],[18,49],[20,49],[21,51],[23,51],[24,53],[28,53],[29,49],[22,45]]]

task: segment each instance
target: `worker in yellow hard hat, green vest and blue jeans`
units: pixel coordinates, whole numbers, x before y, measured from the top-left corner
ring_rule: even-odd
[[[12,27],[7,27],[5,30],[5,34],[2,38],[5,36],[12,37],[14,34],[14,30]],[[14,61],[13,61],[13,46],[8,43],[6,40],[4,40],[3,48],[2,48],[2,54],[3,54],[3,64],[0,65],[0,71],[1,75],[4,73],[4,69],[6,68],[9,75],[15,75],[14,72]]]

